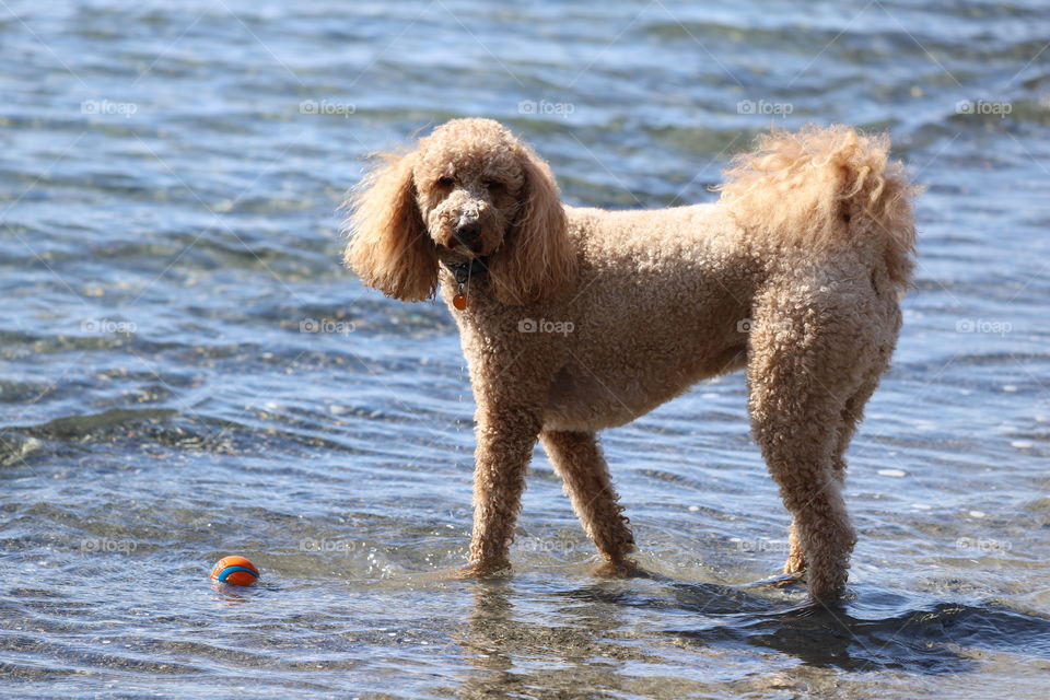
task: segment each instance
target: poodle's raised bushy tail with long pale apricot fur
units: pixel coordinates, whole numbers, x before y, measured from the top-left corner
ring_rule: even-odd
[[[911,199],[889,137],[841,125],[774,129],[754,153],[736,156],[719,189],[737,222],[783,243],[813,248],[843,244],[880,253],[886,273],[908,285],[914,262]],[[816,252],[816,250],[815,250]]]

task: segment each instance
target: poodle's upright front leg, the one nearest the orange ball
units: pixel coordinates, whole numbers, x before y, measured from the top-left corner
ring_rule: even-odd
[[[477,415],[474,468],[474,533],[466,574],[485,575],[510,565],[514,524],[525,490],[525,470],[539,435],[539,409],[482,401]]]

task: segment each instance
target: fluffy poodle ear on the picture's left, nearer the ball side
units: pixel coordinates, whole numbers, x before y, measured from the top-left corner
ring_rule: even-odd
[[[415,154],[380,158],[351,197],[345,259],[365,284],[387,296],[423,301],[438,288],[438,248],[416,203]]]

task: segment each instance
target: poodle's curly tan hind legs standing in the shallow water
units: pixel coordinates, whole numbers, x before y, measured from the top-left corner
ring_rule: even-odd
[[[805,565],[809,594],[831,599],[844,587],[856,537],[842,498],[841,451],[876,366],[877,318],[859,308],[805,308],[770,300],[756,310],[748,363],[752,433],[793,517],[791,573]],[[850,400],[854,399],[850,406]]]

